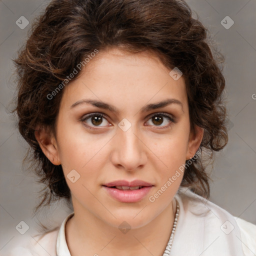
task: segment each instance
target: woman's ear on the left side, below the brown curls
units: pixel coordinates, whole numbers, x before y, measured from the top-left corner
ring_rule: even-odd
[[[36,127],[34,131],[36,140],[39,143],[42,152],[54,165],[59,165],[59,154],[57,149],[57,143],[52,131],[45,127]]]

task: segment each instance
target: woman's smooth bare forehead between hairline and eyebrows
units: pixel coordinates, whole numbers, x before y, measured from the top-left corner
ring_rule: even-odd
[[[128,53],[118,48],[100,51],[64,89],[62,101],[97,99],[130,109],[166,98],[186,105],[185,82],[174,80],[159,56],[151,51]],[[140,106],[140,107],[141,107]]]

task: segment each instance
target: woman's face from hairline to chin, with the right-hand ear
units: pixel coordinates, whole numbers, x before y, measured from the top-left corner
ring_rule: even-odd
[[[116,227],[124,220],[139,227],[170,205],[183,176],[179,168],[196,152],[202,131],[190,133],[184,79],[174,80],[169,72],[155,55],[114,48],[99,52],[66,85],[53,155],[63,167],[74,211]],[[105,186],[117,180],[151,186]],[[115,184],[122,183],[108,185]]]

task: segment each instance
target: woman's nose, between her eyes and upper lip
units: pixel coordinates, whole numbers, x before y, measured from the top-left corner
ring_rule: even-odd
[[[133,125],[126,131],[117,129],[114,136],[112,163],[127,171],[136,170],[147,161],[146,146]]]

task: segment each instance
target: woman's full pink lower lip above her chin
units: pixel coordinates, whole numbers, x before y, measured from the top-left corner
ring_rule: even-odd
[[[152,186],[144,186],[140,189],[134,190],[121,190],[117,188],[103,186],[109,195],[120,202],[138,202],[143,199]]]

